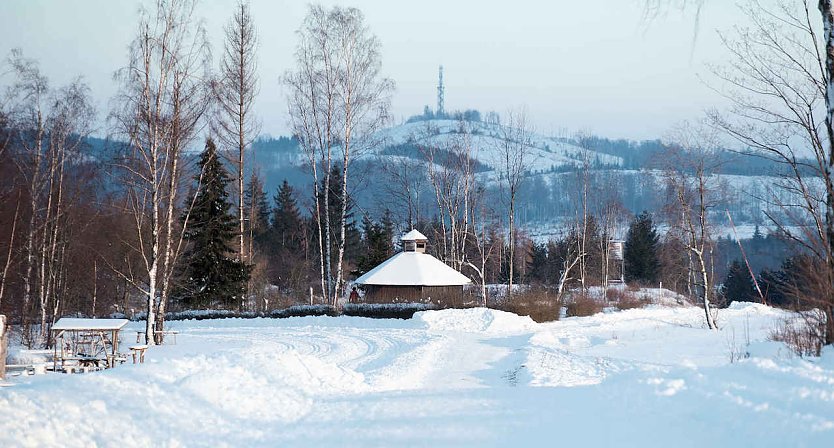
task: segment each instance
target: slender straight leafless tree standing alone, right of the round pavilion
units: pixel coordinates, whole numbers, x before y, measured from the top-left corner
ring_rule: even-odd
[[[500,125],[499,139],[501,167],[499,169],[501,184],[506,188],[508,241],[507,257],[509,277],[507,280],[507,297],[512,300],[513,276],[515,267],[516,225],[515,207],[518,191],[530,170],[532,162],[531,149],[533,147],[533,131],[524,110],[507,114],[507,121]]]

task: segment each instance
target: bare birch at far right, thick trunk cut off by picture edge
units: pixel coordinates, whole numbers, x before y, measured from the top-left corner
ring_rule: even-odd
[[[704,0],[646,0],[646,7],[647,12],[656,12],[670,6],[686,8],[689,4],[696,6],[696,11],[700,11],[703,2]],[[815,3],[819,17],[811,13]],[[815,223],[816,231],[810,235],[813,240],[806,241],[817,242],[819,247],[816,253],[822,255],[829,272],[827,282],[831,287],[825,290],[834,294],[834,183],[831,179],[831,171],[834,168],[834,2],[780,2],[773,10],[758,1],[750,1],[745,9],[753,25],[751,29],[742,31],[753,39],[742,38],[740,42],[746,42],[737,45],[735,49],[730,45],[738,63],[732,71],[739,67],[755,71],[736,72],[731,75],[736,81],[742,82],[730,80],[730,84],[742,92],[746,91],[741,104],[736,104],[736,110],[746,109],[746,112],[741,114],[742,120],[746,123],[736,127],[731,134],[742,141],[752,138],[754,142],[751,146],[764,150],[765,154],[786,164],[790,170],[791,166],[803,166],[797,163],[795,144],[787,139],[786,135],[775,141],[759,142],[764,139],[758,138],[755,130],[763,129],[767,132],[766,135],[773,138],[774,133],[779,134],[778,130],[786,126],[805,128],[799,135],[802,135],[801,141],[804,140],[806,144],[808,141],[811,142],[814,153],[811,169],[817,170],[822,178],[824,191],[822,207],[815,205],[812,209],[807,203],[800,207],[809,213],[810,216],[806,218]],[[821,34],[818,31],[819,25],[822,25]],[[765,89],[756,90],[757,87]],[[756,101],[749,101],[754,98]],[[730,99],[735,101],[732,97]],[[823,111],[819,111],[818,108],[822,108]],[[748,119],[750,121],[747,121]],[[768,122],[774,119],[775,121]],[[742,131],[744,128],[746,130]],[[760,148],[760,145],[765,148]],[[793,171],[790,176],[793,183],[801,173]],[[810,190],[803,191],[803,183],[804,181],[800,181],[789,189],[799,188],[800,195],[812,196]],[[793,239],[802,246],[807,244],[803,244],[798,238]],[[823,315],[827,319],[824,341],[827,345],[833,345],[834,296],[827,295],[820,301]]]

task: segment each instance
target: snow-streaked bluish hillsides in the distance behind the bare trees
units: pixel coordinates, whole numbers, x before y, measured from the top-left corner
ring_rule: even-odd
[[[590,163],[587,180],[594,198],[610,197],[634,214],[643,210],[659,212],[674,199],[667,191],[667,173],[660,169],[666,163],[662,156],[640,159],[640,164],[635,164],[634,160],[626,164],[622,157],[609,154],[614,151],[612,148],[587,150],[567,139],[541,134],[533,134],[531,140],[533,147],[527,157],[528,176],[518,191],[516,210],[519,222],[527,225],[532,233],[548,234],[547,227],[564,227],[563,220],[575,219],[582,179],[585,179],[580,168],[586,160]],[[418,174],[425,168],[424,148],[440,150],[434,160],[435,171],[442,171],[444,162],[447,166],[450,163],[454,166],[459,164],[448,151],[470,148],[469,155],[475,160],[476,176],[486,186],[497,186],[496,182],[505,163],[501,156],[502,129],[482,121],[414,121],[383,129],[370,142],[355,154],[353,160],[359,163],[351,171],[354,176],[351,184],[354,185],[352,194],[356,204],[364,210],[370,210],[372,214],[381,213],[382,208],[393,209],[395,213],[404,212],[406,205],[396,200],[393,204],[385,203],[384,207],[380,203],[390,201],[392,194],[396,198],[401,197],[403,193],[400,189],[404,188],[401,184],[409,176],[422,175],[428,178],[427,173]],[[253,159],[258,163],[267,190],[278,188],[284,178],[290,177],[295,179],[299,191],[306,191],[311,181],[309,170],[305,168],[309,164],[307,156],[297,146],[293,146],[295,143],[289,139],[278,143],[274,147],[264,144],[259,149],[259,156]],[[600,145],[600,148],[606,146]],[[629,156],[629,151],[635,154],[638,151],[635,148],[629,149],[627,145],[617,148],[619,152],[613,153],[623,157],[636,157],[634,154]],[[603,150],[609,153],[601,152]],[[720,196],[719,205],[712,208],[714,216],[711,216],[711,221],[716,225],[729,225],[725,212],[729,210],[737,225],[753,228],[754,224],[769,223],[768,216],[781,219],[785,210],[779,204],[801,202],[796,193],[777,187],[784,183],[784,179],[775,175],[776,166],[757,171],[745,169],[752,158],[732,158],[726,154],[722,157],[726,159],[726,163],[722,164],[722,170],[725,171],[722,174],[712,174],[707,179],[709,187]],[[385,175],[378,176],[379,173]],[[396,182],[391,182],[391,176]],[[414,201],[421,198],[418,206],[424,209],[423,214],[435,213],[434,203],[430,200],[434,196],[430,183],[415,180],[410,182],[409,188],[414,190],[411,192]],[[822,191],[822,184],[813,179],[810,186],[816,190],[814,193]],[[393,190],[397,190],[396,193],[392,193]],[[499,199],[496,189],[488,194],[492,195],[491,201]],[[605,200],[594,199],[592,206],[604,205]],[[791,225],[798,224],[791,219],[784,221]],[[727,233],[724,229],[719,232],[721,235]]]

